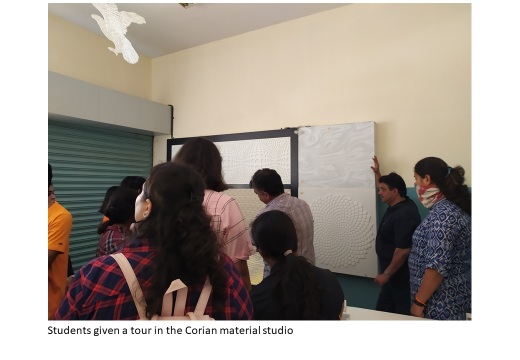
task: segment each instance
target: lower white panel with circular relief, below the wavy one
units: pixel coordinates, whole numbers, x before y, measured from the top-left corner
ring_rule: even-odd
[[[333,272],[377,276],[374,188],[299,188],[314,218],[316,266]]]

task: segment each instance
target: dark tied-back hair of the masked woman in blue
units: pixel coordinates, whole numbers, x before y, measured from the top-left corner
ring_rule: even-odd
[[[448,173],[446,162],[436,157],[427,157],[415,164],[414,171],[421,178],[430,175],[431,181],[447,200],[471,215],[471,193],[464,184],[466,172],[462,166],[456,166]]]

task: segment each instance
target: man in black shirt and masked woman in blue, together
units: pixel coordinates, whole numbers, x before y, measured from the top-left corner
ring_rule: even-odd
[[[376,183],[386,210],[376,237],[382,271],[376,310],[437,320],[464,320],[471,308],[471,194],[464,169],[428,157],[414,167],[415,189],[429,209],[421,221],[401,176]]]

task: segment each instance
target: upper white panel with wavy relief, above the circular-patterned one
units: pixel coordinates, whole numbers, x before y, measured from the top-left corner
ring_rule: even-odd
[[[374,187],[374,122],[298,129],[299,186]]]

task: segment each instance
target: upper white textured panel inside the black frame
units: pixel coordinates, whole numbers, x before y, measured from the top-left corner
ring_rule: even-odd
[[[284,184],[291,183],[291,138],[221,141],[222,172],[228,184],[249,184],[262,168],[274,169]],[[172,159],[182,145],[172,145]]]

